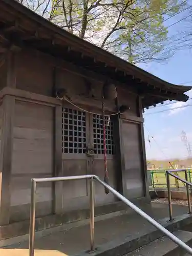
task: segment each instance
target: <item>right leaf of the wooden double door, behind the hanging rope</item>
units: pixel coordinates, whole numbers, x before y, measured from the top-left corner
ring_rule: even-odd
[[[111,117],[110,121],[108,116],[105,116],[105,130],[106,130],[106,158],[108,164],[109,183],[115,189],[117,188],[116,179],[116,147],[115,147],[115,125],[114,118]],[[91,144],[94,147],[95,155],[92,161],[91,173],[99,176],[101,179],[104,177],[104,146],[103,146],[103,118],[102,115],[90,115],[90,133]],[[95,184],[95,204],[104,204],[115,201],[116,198],[113,194],[105,195],[104,188],[100,184]]]

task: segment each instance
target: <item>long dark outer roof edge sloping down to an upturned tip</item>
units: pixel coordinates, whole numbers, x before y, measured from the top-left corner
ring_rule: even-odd
[[[49,20],[41,17],[37,13],[31,11],[27,7],[23,6],[22,4],[19,4],[15,0],[1,0],[6,5],[11,6],[15,8],[18,12],[22,13],[23,15],[26,15],[28,18],[35,20],[35,22],[39,23],[41,26],[45,26],[47,29],[52,30],[54,33],[57,33],[58,35],[65,37],[65,40],[69,40],[70,44],[75,45],[76,48],[79,48],[79,51],[92,53],[94,57],[99,58],[100,56],[105,57],[106,62],[109,64],[113,64],[113,66],[117,66],[117,69],[122,69],[123,71],[126,71],[128,73],[133,74],[134,76],[138,77],[140,80],[146,81],[146,79],[153,80],[153,84],[155,84],[157,87],[166,87],[166,88],[172,88],[176,91],[180,92],[186,92],[192,87],[189,86],[178,86],[176,84],[172,84],[169,82],[166,82],[155,75],[152,75],[151,73],[148,73],[147,71],[142,70],[141,68],[132,65],[131,63],[115,56],[114,54],[105,51],[101,48],[99,48],[96,45],[93,45],[91,42],[88,42],[86,40],[83,40],[79,38],[78,36],[69,33],[66,30],[63,30],[62,28],[58,27],[57,25],[51,23]]]

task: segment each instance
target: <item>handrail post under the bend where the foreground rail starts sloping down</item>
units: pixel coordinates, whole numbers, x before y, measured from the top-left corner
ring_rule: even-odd
[[[90,178],[90,234],[91,234],[91,251],[95,248],[95,228],[94,228],[94,179]]]

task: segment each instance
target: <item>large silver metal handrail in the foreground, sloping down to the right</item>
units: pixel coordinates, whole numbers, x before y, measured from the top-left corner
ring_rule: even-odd
[[[135,210],[141,217],[150,222],[157,229],[162,231],[166,236],[175,242],[177,245],[182,247],[184,250],[189,252],[192,255],[192,248],[182,242],[179,238],[174,236],[173,233],[169,232],[166,228],[160,225],[153,218],[145,214],[139,207],[133,204],[130,200],[123,197],[110,185],[106,184],[99,179],[96,175],[83,175],[83,176],[71,176],[71,177],[55,177],[55,178],[39,178],[31,179],[31,208],[30,208],[30,228],[29,228],[29,256],[34,256],[34,238],[35,238],[35,193],[36,193],[36,183],[40,182],[56,182],[56,181],[65,181],[65,180],[80,180],[80,179],[89,179],[90,180],[90,227],[91,227],[91,251],[95,249],[94,247],[94,180],[98,181],[105,188],[108,188],[109,191],[114,194],[117,198],[123,201],[126,205],[130,206]]]

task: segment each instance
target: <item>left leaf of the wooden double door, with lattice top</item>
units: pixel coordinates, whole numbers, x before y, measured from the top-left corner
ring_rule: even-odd
[[[64,176],[90,173],[86,150],[89,145],[89,114],[62,108],[62,173]],[[63,182],[63,207],[67,210],[87,208],[89,189],[86,180]]]

